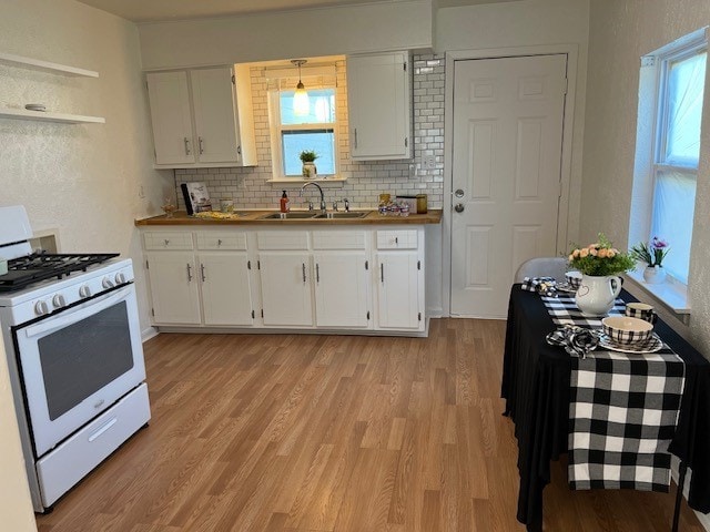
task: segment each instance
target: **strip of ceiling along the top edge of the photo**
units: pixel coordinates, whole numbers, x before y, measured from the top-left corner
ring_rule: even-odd
[[[133,22],[184,20],[296,9],[396,3],[407,0],[79,0]],[[438,0],[440,8],[516,0]]]

